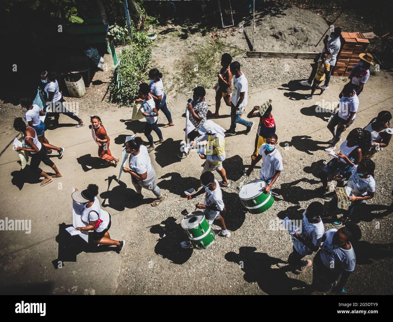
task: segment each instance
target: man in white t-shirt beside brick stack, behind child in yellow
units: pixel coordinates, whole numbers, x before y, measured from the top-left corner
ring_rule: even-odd
[[[327,72],[325,78],[325,85],[321,86],[322,89],[324,90],[329,88],[330,76],[332,74],[332,70],[334,70],[334,67],[336,66],[337,54],[340,51],[340,47],[341,47],[340,34],[341,34],[341,28],[337,27],[334,28],[334,30],[331,32],[330,37],[326,35],[326,37],[323,39],[324,48],[318,61],[322,59],[324,53],[328,53],[329,63],[330,63],[330,69]],[[309,79],[307,81],[301,81],[300,82],[301,85],[311,87],[311,83],[315,77],[316,72],[317,72],[316,68],[313,68]]]

